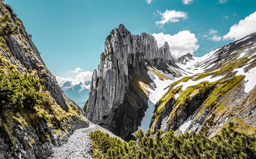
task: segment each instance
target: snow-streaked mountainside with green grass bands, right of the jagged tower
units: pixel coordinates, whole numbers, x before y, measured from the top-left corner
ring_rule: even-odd
[[[170,84],[155,105],[151,132],[172,128],[176,135],[196,131],[213,137],[234,122],[236,131],[256,135],[255,39],[252,33],[203,57],[188,53],[177,59],[193,76]]]

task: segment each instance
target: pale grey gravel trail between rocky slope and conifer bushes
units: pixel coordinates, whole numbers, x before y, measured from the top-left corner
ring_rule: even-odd
[[[53,147],[53,153],[48,157],[48,159],[92,159],[90,152],[91,140],[89,139],[88,135],[90,132],[98,130],[98,128],[100,128],[103,132],[108,132],[110,136],[116,137],[110,131],[90,123],[89,127],[87,128],[75,130],[68,139],[67,143],[60,147]]]

